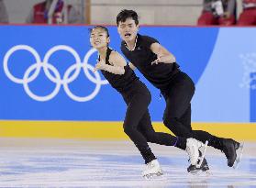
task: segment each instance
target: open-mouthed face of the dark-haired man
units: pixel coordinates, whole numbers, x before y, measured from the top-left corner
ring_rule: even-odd
[[[138,33],[139,25],[136,26],[135,21],[128,17],[125,22],[119,22],[117,27],[120,37],[126,42],[133,41]]]

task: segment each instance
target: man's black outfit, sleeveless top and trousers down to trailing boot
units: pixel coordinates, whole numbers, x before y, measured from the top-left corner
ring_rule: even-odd
[[[210,146],[225,152],[228,160],[231,160],[228,166],[231,165],[236,159],[235,148],[239,147],[239,143],[232,139],[217,138],[203,130],[192,130],[191,99],[195,93],[195,83],[186,73],[180,71],[176,62],[151,65],[151,62],[157,59],[157,55],[150,50],[152,43],[159,42],[157,39],[138,34],[134,50],[128,50],[125,41],[122,41],[121,50],[128,61],[138,68],[150,83],[160,89],[166,102],[164,125],[178,137],[195,138],[202,142],[208,140]]]

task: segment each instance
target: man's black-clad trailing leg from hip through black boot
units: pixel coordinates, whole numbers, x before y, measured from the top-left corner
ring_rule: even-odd
[[[238,142],[228,138],[217,138],[203,130],[191,130],[189,119],[191,118],[190,101],[194,94],[194,83],[184,75],[177,83],[173,84],[170,92],[164,95],[166,108],[163,123],[176,136],[184,138],[195,138],[202,142],[208,141],[208,145],[222,150],[227,159],[228,166],[233,166],[237,159],[236,148]]]

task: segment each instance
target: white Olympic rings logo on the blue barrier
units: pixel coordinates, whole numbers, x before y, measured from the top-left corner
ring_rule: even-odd
[[[9,60],[10,56],[13,55],[13,53],[17,50],[28,50],[36,59],[36,62],[28,67],[27,71],[24,73],[23,78],[15,77],[9,71],[9,68],[8,68],[8,60]],[[57,50],[66,50],[66,51],[70,52],[75,59],[75,63],[72,64],[66,70],[66,72],[64,72],[63,78],[61,78],[60,72],[58,72],[58,70],[52,64],[50,64],[48,62],[50,59],[50,56]],[[17,45],[17,46],[12,47],[10,50],[8,50],[6,52],[6,55],[4,57],[4,71],[6,73],[6,76],[11,81],[13,81],[14,83],[23,84],[25,92],[34,100],[49,101],[54,96],[56,96],[56,94],[59,93],[59,91],[61,89],[61,85],[63,85],[65,93],[68,94],[68,96],[70,98],[72,98],[72,100],[78,101],[78,102],[90,101],[93,98],[95,98],[96,94],[99,93],[101,85],[108,83],[106,80],[101,79],[99,72],[94,72],[95,76],[92,76],[92,74],[89,72],[89,70],[91,72],[94,71],[94,67],[92,65],[88,64],[88,60],[89,60],[90,56],[93,53],[95,53],[95,51],[96,51],[95,49],[89,50],[85,54],[85,56],[83,58],[83,62],[82,62],[78,53],[75,50],[73,50],[71,47],[66,46],[66,45],[58,45],[58,46],[54,46],[53,48],[48,50],[44,56],[43,61],[41,61],[37,50],[34,50],[32,47],[30,47],[28,45]],[[39,72],[41,69],[43,69],[43,72],[45,73],[47,78],[52,83],[56,83],[56,86],[53,89],[53,91],[50,94],[44,95],[44,96],[40,96],[40,95],[32,93],[28,87],[28,83],[33,82],[39,76]],[[75,94],[72,94],[71,90],[69,89],[69,83],[72,83],[78,77],[79,73],[81,72],[81,69],[83,69],[85,76],[92,83],[95,83],[95,90],[93,91],[93,93],[88,94],[86,96],[77,96]],[[33,72],[33,73],[31,74],[31,72]],[[52,75],[50,72],[53,72],[54,75]],[[71,75],[71,73],[72,73],[72,75]]]

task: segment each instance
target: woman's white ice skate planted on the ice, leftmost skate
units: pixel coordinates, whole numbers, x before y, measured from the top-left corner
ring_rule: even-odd
[[[152,160],[146,164],[145,170],[142,171],[142,176],[146,179],[150,179],[153,176],[161,176],[163,173],[161,171],[160,164],[158,160]]]

